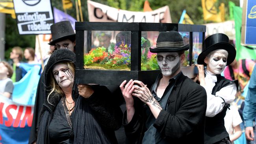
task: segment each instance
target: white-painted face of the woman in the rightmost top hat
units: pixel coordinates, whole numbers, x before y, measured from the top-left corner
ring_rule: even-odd
[[[218,52],[213,53],[207,62],[206,69],[214,74],[221,74],[227,65],[227,56]]]

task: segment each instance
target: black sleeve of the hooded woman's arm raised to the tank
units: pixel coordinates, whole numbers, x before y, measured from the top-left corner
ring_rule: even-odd
[[[86,99],[100,124],[107,129],[117,130],[122,125],[122,111],[115,96],[105,86],[93,86],[94,93]]]

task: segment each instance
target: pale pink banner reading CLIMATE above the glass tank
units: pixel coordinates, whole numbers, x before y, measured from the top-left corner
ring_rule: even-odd
[[[91,0],[87,0],[87,6],[90,22],[172,22],[169,6],[147,12],[116,9]]]

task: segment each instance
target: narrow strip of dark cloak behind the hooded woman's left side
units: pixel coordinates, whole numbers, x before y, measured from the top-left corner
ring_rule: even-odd
[[[37,85],[37,93],[35,96],[35,105],[33,111],[33,121],[30,130],[30,138],[28,144],[33,144],[37,140],[37,129],[39,127],[39,116],[41,112],[41,108],[43,106],[45,100],[45,70],[40,76],[38,85]]]

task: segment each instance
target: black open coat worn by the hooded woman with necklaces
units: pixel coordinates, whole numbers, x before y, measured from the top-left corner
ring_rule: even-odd
[[[83,115],[83,112],[80,111],[81,109],[78,105],[88,104],[89,107],[92,109],[93,115],[95,116],[96,121],[98,121],[98,123],[100,124],[106,137],[108,137],[111,143],[115,144],[117,143],[117,140],[115,138],[114,131],[119,129],[122,124],[122,111],[118,104],[113,103],[114,101],[112,101],[111,93],[106,87],[95,86],[93,87],[93,89],[95,92],[88,99],[79,96],[77,88],[75,88],[75,90],[73,89],[72,98],[76,101],[76,106],[73,112],[73,129],[74,127],[78,127],[80,129],[83,123],[83,116],[81,116]],[[48,103],[47,98],[45,99],[45,103],[43,104],[39,117],[39,133],[37,137],[37,142],[39,143],[50,143],[48,136],[48,126],[50,124],[50,121],[52,120],[54,109],[58,104],[59,100],[61,100],[61,96],[58,94],[53,94],[53,96],[51,96],[51,98],[49,99],[49,102],[52,103],[54,105],[53,106]],[[76,111],[78,111],[79,114],[75,113]],[[77,114],[80,116],[79,118],[76,117]],[[74,131],[76,131],[76,128],[74,129]],[[85,132],[85,129],[83,129],[82,131]],[[78,138],[76,137],[76,134],[74,138]],[[80,139],[84,138],[80,137]]]

